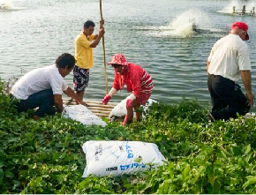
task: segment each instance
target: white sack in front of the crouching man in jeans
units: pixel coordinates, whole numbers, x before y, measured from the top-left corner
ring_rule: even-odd
[[[63,111],[64,117],[70,117],[75,121],[79,121],[82,124],[97,124],[102,127],[106,126],[106,123],[102,121],[102,118],[94,115],[92,111],[87,109],[83,105],[66,106]]]

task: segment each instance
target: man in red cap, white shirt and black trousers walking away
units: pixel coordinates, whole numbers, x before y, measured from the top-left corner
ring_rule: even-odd
[[[229,120],[245,115],[253,105],[251,61],[246,40],[248,26],[235,22],[230,34],[215,42],[207,59],[208,90],[212,100],[211,120]],[[246,94],[237,80],[241,76]]]

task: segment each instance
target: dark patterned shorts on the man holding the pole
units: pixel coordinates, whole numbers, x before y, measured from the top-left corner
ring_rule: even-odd
[[[73,70],[73,86],[74,91],[82,92],[88,86],[89,82],[89,69],[82,69],[75,65]]]

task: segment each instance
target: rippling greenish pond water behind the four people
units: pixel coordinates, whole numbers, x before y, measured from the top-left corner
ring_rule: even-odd
[[[0,0],[0,77],[12,76],[54,64],[64,52],[74,54],[74,39],[87,19],[98,31],[100,5],[94,0]],[[128,62],[139,64],[154,79],[152,99],[176,103],[183,97],[210,102],[206,61],[215,41],[229,34],[235,21],[249,26],[247,41],[252,61],[252,92],[255,94],[256,16],[234,15],[232,7],[251,11],[255,1],[214,0],[102,0],[105,19],[106,61],[123,53]],[[198,32],[193,31],[195,25]],[[114,70],[107,66],[108,88]],[[65,80],[72,86],[72,74]],[[241,80],[239,80],[241,84]],[[94,49],[94,68],[85,98],[102,100],[105,94],[102,41]],[[113,98],[123,100],[122,90]]]

